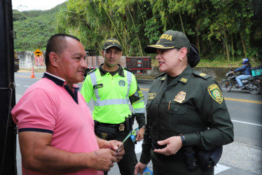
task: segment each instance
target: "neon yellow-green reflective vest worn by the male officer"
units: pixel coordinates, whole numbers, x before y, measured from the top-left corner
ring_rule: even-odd
[[[102,66],[88,73],[81,94],[85,102],[94,100],[92,116],[99,123],[119,124],[131,115],[130,101],[134,113],[144,113],[144,96],[139,90],[134,74],[119,65],[118,73],[111,76]]]

